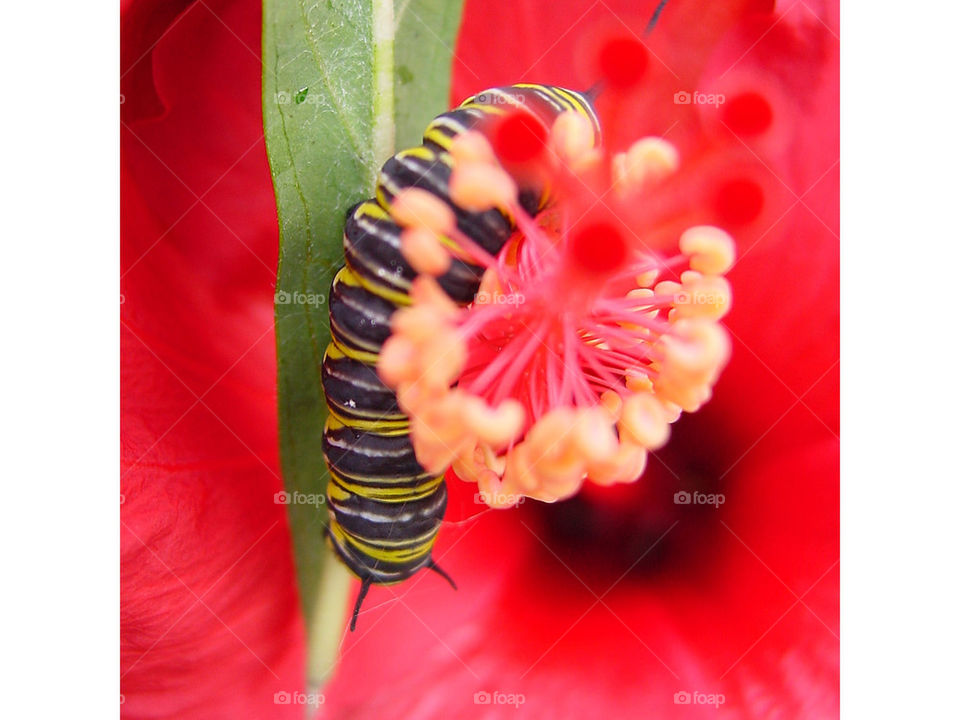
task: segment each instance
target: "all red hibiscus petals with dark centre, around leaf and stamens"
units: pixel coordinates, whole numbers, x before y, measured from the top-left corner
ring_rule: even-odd
[[[275,702],[305,688],[272,502],[259,8],[155,5],[123,15],[124,715],[302,715]],[[688,78],[699,59],[674,92],[728,97],[698,108],[703,131],[765,173],[762,207],[727,218],[732,355],[713,399],[635,484],[461,520],[476,486],[452,480],[434,555],[459,592],[432,575],[371,590],[321,716],[837,714],[836,8],[752,3],[710,32],[690,5],[663,11],[650,62]],[[581,86],[587,31],[637,27],[635,11],[468,2],[452,95]],[[618,117],[669,137],[675,109]]]

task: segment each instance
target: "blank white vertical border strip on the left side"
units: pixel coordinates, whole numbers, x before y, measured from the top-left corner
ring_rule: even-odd
[[[117,7],[13,3],[4,27],[0,714],[114,717]]]

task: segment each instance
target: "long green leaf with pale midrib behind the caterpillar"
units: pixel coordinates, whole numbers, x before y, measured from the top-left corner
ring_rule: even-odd
[[[460,0],[264,0],[264,129],[280,222],[280,454],[297,500],[288,510],[311,687],[336,660],[350,589],[323,540],[327,510],[317,500],[327,483],[326,300],[343,264],[344,215],[373,195],[394,138],[419,143],[446,109],[459,20]]]

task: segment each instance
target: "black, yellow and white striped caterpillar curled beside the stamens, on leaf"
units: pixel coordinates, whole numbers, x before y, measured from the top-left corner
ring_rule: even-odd
[[[391,219],[391,201],[405,188],[418,187],[454,211],[457,227],[496,255],[514,230],[496,209],[468,212],[449,196],[453,140],[467,130],[483,132],[497,116],[522,108],[546,128],[565,111],[586,116],[599,130],[587,94],[547,85],[512,85],[486,90],[433,120],[423,144],[387,160],[376,198],[347,213],[346,265],[330,291],[332,341],[323,359],[322,381],[329,408],[323,450],[330,471],[327,538],[344,564],[361,580],[350,629],[371,584],[401,582],[422,568],[453,580],[433,561],[431,551],[447,505],[443,475],[417,462],[409,419],[396,395],[377,375],[377,359],[390,336],[390,317],[409,303],[416,273],[401,253],[401,228]],[[523,188],[521,206],[535,213],[543,189]],[[437,278],[455,302],[473,301],[483,268],[454,258]]]

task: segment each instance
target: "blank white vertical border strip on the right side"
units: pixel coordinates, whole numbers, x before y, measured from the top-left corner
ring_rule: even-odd
[[[960,640],[960,12],[841,10],[842,714],[947,717]]]

